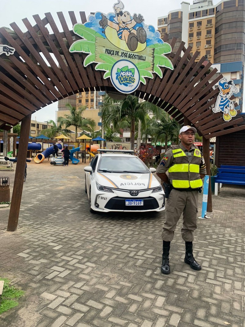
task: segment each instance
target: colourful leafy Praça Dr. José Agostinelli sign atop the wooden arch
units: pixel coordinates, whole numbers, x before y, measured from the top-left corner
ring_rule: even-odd
[[[160,67],[173,70],[172,62],[165,56],[172,52],[160,33],[152,25],[145,25],[141,14],[130,15],[123,11],[119,0],[114,12],[107,15],[97,11],[85,24],[75,24],[73,31],[83,38],[75,41],[69,51],[87,53],[84,67],[96,62],[95,70],[105,71],[114,87],[122,93],[134,92],[145,77],[153,73],[163,77]]]

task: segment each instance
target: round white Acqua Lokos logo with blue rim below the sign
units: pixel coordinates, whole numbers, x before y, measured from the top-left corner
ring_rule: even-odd
[[[139,70],[129,60],[117,61],[111,69],[111,82],[123,93],[132,93],[139,86]]]

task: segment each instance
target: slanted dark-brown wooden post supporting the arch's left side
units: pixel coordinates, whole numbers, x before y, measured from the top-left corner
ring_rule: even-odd
[[[30,125],[31,113],[24,117],[21,121],[21,137],[19,141],[18,160],[16,163],[13,194],[8,216],[7,231],[9,232],[16,231],[18,226]]]

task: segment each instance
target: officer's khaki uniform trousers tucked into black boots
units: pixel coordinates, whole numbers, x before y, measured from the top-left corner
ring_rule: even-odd
[[[177,191],[172,189],[166,202],[165,223],[162,240],[172,241],[177,222],[183,212],[181,235],[184,241],[194,241],[197,228],[198,191]]]

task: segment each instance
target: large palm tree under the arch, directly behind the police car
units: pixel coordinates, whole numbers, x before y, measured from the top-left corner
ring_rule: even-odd
[[[128,95],[123,100],[115,100],[105,96],[100,112],[103,127],[124,129],[130,127],[131,147],[134,149],[135,124],[140,120],[142,128],[146,128],[146,117],[148,114],[158,115],[160,108],[147,101],[140,101],[138,97]]]

